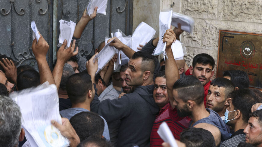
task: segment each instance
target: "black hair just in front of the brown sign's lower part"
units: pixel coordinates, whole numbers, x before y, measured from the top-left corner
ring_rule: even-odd
[[[245,89],[249,87],[248,74],[242,70],[227,70],[223,72],[223,76],[229,76],[230,81],[233,82],[235,87]]]

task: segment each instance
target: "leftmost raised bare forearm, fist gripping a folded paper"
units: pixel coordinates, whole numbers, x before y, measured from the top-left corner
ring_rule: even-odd
[[[36,39],[34,39],[33,44],[32,44],[32,51],[36,57],[36,63],[39,69],[41,84],[45,83],[46,81],[48,81],[49,84],[55,84],[54,77],[52,75],[51,70],[49,69],[47,60],[45,58],[48,48],[49,48],[49,45],[41,34],[40,34],[38,43]]]

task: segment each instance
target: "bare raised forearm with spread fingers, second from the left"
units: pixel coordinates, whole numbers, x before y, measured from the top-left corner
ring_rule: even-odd
[[[73,41],[73,44],[72,43],[70,44],[68,49],[65,49],[66,44],[67,44],[67,40],[64,40],[63,44],[61,45],[61,47],[57,51],[57,54],[56,54],[57,61],[56,61],[56,64],[55,64],[55,68],[52,72],[54,79],[55,79],[55,85],[57,87],[57,90],[59,89],[59,86],[60,86],[64,64],[72,56],[75,56],[78,53],[78,47],[76,47],[76,51],[74,52],[75,45],[76,45],[75,43],[76,43],[76,40]]]

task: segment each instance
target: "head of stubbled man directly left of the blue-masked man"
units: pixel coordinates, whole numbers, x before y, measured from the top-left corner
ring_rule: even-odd
[[[224,120],[226,108],[229,106],[227,96],[234,91],[233,83],[226,78],[216,78],[209,86],[207,93],[207,108],[217,112]]]

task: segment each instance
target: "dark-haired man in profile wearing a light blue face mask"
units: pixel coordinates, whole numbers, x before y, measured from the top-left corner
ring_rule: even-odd
[[[248,125],[249,113],[258,102],[257,96],[249,89],[235,90],[228,95],[229,107],[225,112],[225,123],[231,126],[234,133],[230,139],[221,143],[220,147],[236,147],[239,142],[245,142],[243,132]]]

